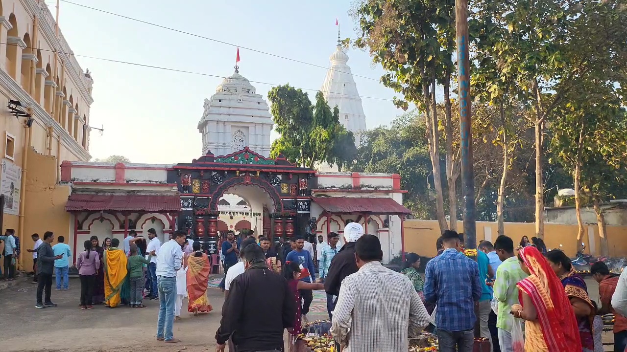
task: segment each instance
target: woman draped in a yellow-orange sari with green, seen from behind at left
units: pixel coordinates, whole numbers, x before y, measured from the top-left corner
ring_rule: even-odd
[[[126,254],[118,246],[120,240],[112,239],[111,247],[105,251],[105,301],[109,308],[120,304],[120,289],[127,274]]]

